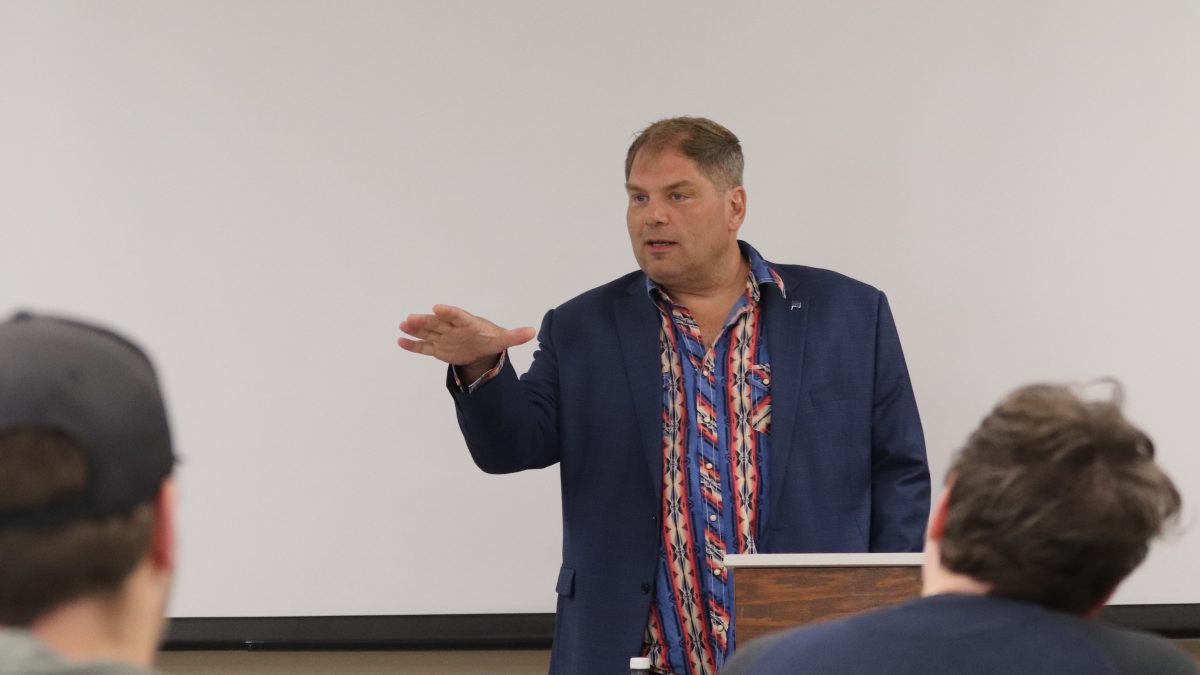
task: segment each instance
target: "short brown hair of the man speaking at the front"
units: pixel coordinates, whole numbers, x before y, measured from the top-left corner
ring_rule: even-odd
[[[634,168],[634,157],[646,150],[658,154],[679,150],[719,190],[742,185],[742,143],[732,131],[706,118],[670,118],[642,130],[625,154],[625,180]]]

